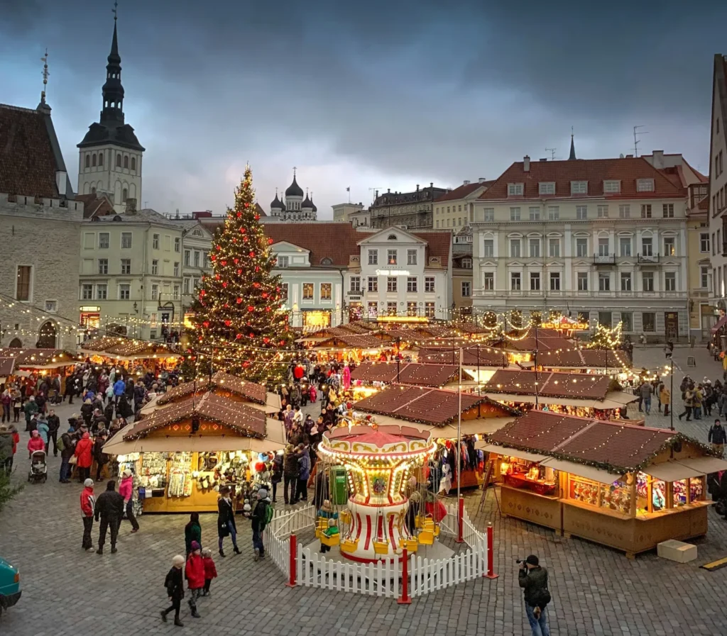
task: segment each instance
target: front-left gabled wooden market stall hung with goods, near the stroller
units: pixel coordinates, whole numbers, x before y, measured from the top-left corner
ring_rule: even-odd
[[[142,417],[103,451],[132,470],[145,513],[188,513],[216,511],[221,486],[241,505],[256,464],[285,444],[283,423],[264,410],[207,391]]]

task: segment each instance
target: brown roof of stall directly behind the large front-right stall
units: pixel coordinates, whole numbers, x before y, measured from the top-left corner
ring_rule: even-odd
[[[585,375],[576,373],[551,373],[534,371],[496,371],[483,390],[486,393],[509,395],[535,395],[543,397],[606,399],[611,378],[606,375]]]

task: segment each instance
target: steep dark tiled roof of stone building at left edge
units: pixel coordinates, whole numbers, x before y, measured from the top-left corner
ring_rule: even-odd
[[[0,104],[0,192],[58,198],[59,168],[45,118],[38,110]]]

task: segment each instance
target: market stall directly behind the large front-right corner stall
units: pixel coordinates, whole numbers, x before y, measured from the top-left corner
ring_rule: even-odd
[[[601,420],[622,417],[622,409],[638,399],[606,375],[535,371],[497,371],[482,392],[525,411],[537,408]]]

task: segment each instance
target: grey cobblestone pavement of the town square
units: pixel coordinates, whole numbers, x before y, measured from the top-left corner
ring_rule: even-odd
[[[686,356],[698,366],[693,377],[718,377],[720,368],[706,351],[678,348],[675,362],[686,369]],[[660,349],[635,351],[637,364],[663,363]],[[681,377],[677,372],[675,384]],[[75,404],[74,404],[75,407]],[[70,414],[62,407],[60,414]],[[668,426],[661,415],[648,425]],[[680,431],[706,439],[707,420],[679,422]],[[27,437],[23,435],[24,447]],[[19,451],[16,478],[23,481],[28,462]],[[0,619],[5,636],[153,635],[184,633],[163,624],[158,611],[166,605],[164,576],[174,554],[184,550],[185,515],[147,515],[141,531],[121,526],[119,553],[98,556],[81,551],[79,484],[57,482],[60,460],[50,457],[47,484],[26,486],[0,513],[0,555],[20,567],[23,598]],[[516,558],[536,553],[550,571],[553,603],[549,606],[553,635],[623,636],[673,634],[725,635],[723,592],[727,568],[709,573],[702,563],[727,556],[727,522],[710,510],[710,529],[699,545],[699,559],[678,564],[655,554],[627,560],[622,553],[581,539],[561,539],[553,531],[515,519],[502,519],[489,494],[477,514],[479,495],[467,500],[470,515],[481,528],[495,528],[499,578],[468,582],[416,599],[411,606],[395,600],[344,592],[289,589],[270,561],[254,563],[249,523],[238,529],[243,554],[216,558],[220,577],[212,596],[201,599],[201,619],[182,608],[185,629],[217,636],[340,636],[411,633],[446,636],[529,635]],[[215,515],[202,515],[204,542],[216,539]],[[97,539],[94,528],[94,542]]]

